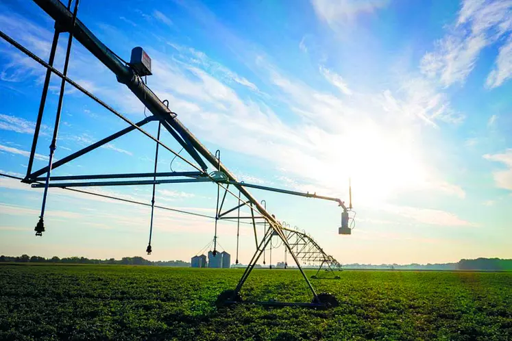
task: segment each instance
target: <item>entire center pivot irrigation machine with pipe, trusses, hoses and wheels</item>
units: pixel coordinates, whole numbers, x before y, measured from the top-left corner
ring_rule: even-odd
[[[75,192],[82,192],[86,194],[99,195],[101,197],[108,197],[103,194],[97,194],[94,192],[87,192],[85,190],[77,189],[77,187],[89,187],[89,186],[134,186],[134,185],[151,185],[153,186],[153,196],[151,199],[151,203],[143,203],[138,201],[129,201],[127,199],[121,199],[117,197],[108,197],[110,199],[118,199],[121,201],[128,201],[130,203],[136,203],[141,205],[147,205],[151,207],[151,220],[149,227],[149,244],[147,246],[147,253],[151,253],[151,233],[153,227],[153,216],[154,216],[154,208],[171,210],[175,212],[182,212],[193,214],[191,212],[183,212],[180,210],[175,210],[169,207],[162,207],[155,205],[155,187],[160,184],[181,184],[181,183],[197,183],[197,182],[210,182],[217,185],[217,210],[215,216],[206,216],[202,214],[195,214],[198,216],[204,216],[206,218],[212,218],[215,220],[215,237],[213,238],[213,248],[214,253],[217,251],[217,222],[218,220],[227,220],[236,222],[238,224],[237,231],[237,250],[236,250],[236,263],[238,263],[238,249],[239,249],[239,231],[240,224],[245,223],[252,225],[254,228],[254,239],[256,244],[256,252],[252,256],[249,264],[245,268],[245,272],[243,273],[238,285],[234,290],[225,290],[221,294],[219,294],[217,298],[217,306],[225,306],[231,305],[234,303],[258,303],[263,305],[273,305],[273,306],[285,306],[285,305],[298,305],[304,307],[332,307],[338,305],[337,299],[332,296],[332,294],[321,293],[317,294],[315,289],[311,285],[308,277],[304,273],[304,270],[301,266],[301,261],[303,263],[313,263],[319,266],[317,274],[312,276],[320,277],[319,272],[322,267],[328,270],[330,273],[334,274],[334,270],[341,270],[341,265],[337,260],[334,259],[331,255],[328,255],[324,252],[324,250],[319,246],[313,238],[311,238],[305,231],[299,231],[298,229],[292,229],[290,226],[284,221],[280,222],[276,219],[273,214],[270,214],[266,209],[265,201],[257,201],[252,194],[247,190],[247,188],[256,188],[258,190],[268,190],[272,192],[280,192],[283,194],[291,194],[300,197],[307,198],[315,198],[315,199],[323,199],[328,201],[334,201],[338,203],[341,207],[341,227],[339,227],[340,234],[350,234],[351,229],[354,226],[354,216],[349,216],[349,212],[352,211],[352,201],[350,201],[349,207],[346,207],[344,202],[341,199],[333,198],[333,197],[324,197],[315,194],[310,194],[309,192],[296,192],[291,190],[283,190],[279,188],[271,188],[267,186],[260,186],[256,184],[245,184],[243,181],[237,181],[234,175],[221,163],[220,151],[217,151],[215,154],[210,153],[204,145],[195,138],[195,136],[188,131],[188,129],[178,120],[177,114],[172,112],[169,109],[169,101],[164,100],[161,101],[154,92],[152,92],[147,84],[143,81],[143,77],[147,77],[147,75],[151,75],[151,59],[149,56],[141,49],[140,47],[136,47],[132,50],[132,58],[130,63],[123,61],[117,54],[112,52],[106,45],[103,43],[91,32],[89,29],[77,18],[77,10],[78,4],[80,0],[75,0],[74,4],[72,0],[69,0],[67,6],[61,3],[58,0],[34,0],[34,2],[44,10],[53,20],[55,21],[55,32],[53,34],[53,42],[51,45],[49,61],[45,62],[37,55],[23,47],[16,42],[14,39],[10,38],[7,34],[0,31],[0,36],[11,45],[28,55],[30,58],[34,59],[40,65],[44,66],[47,69],[45,81],[42,87],[42,95],[40,99],[40,106],[36,121],[36,127],[34,131],[34,140],[32,142],[32,150],[30,151],[29,162],[27,166],[27,175],[24,179],[21,179],[24,183],[32,184],[33,188],[44,188],[43,197],[42,197],[42,207],[41,214],[39,217],[39,221],[36,225],[35,231],[36,236],[42,236],[42,232],[45,231],[45,205],[49,188],[58,187],[64,188],[66,190],[73,190]],[[53,62],[55,60],[56,49],[58,45],[58,39],[60,34],[68,33],[67,46],[66,46],[66,56],[64,59],[64,69],[62,73],[53,67]],[[90,53],[95,55],[95,57],[103,63],[107,68],[114,73],[117,77],[117,81],[121,84],[125,84],[127,88],[129,88],[135,96],[145,105],[145,108],[151,112],[151,116],[144,118],[142,121],[134,123],[130,121],[128,118],[120,114],[116,110],[114,110],[110,105],[101,101],[94,94],[90,93],[88,90],[85,90],[82,86],[77,84],[72,79],[67,77],[67,71],[69,66],[69,58],[71,55],[71,45],[73,43],[73,38],[80,42]],[[50,145],[50,153],[49,153],[49,164],[44,168],[40,168],[39,170],[32,171],[32,165],[34,162],[34,156],[36,155],[36,146],[39,137],[39,131],[41,127],[42,114],[45,109],[45,101],[49,88],[49,81],[51,75],[57,75],[62,80],[60,84],[60,94],[58,98],[58,106],[56,112],[56,121],[53,129],[53,137]],[[80,92],[86,94],[86,96],[90,97],[99,105],[103,106],[114,115],[121,118],[128,124],[128,127],[118,131],[115,134],[112,134],[98,142],[90,144],[88,147],[72,153],[66,157],[63,157],[56,162],[53,162],[53,154],[56,150],[56,143],[58,138],[58,128],[60,124],[60,116],[62,112],[62,101],[64,99],[64,88],[66,84],[70,84],[71,86],[80,90]],[[143,129],[143,126],[147,123],[151,123],[152,121],[158,122],[158,134],[156,137],[149,134],[147,131]],[[160,140],[160,133],[162,132],[162,128],[164,131],[168,131],[171,136],[181,145],[182,151],[186,151],[188,156],[192,158],[192,160],[186,159],[181,155],[180,152],[176,152],[166,144],[164,144]],[[96,174],[96,175],[70,175],[70,176],[52,176],[51,170],[70,162],[71,160],[75,160],[77,157],[89,153],[105,144],[115,140],[121,136],[124,136],[130,131],[138,130],[141,131],[142,134],[154,140],[156,142],[156,150],[155,150],[155,162],[154,162],[154,172],[153,173],[122,173],[122,174]],[[191,167],[190,171],[171,171],[171,172],[158,172],[157,171],[157,163],[158,163],[158,149],[159,148],[167,149],[178,157],[180,160],[185,162],[188,166]],[[210,170],[208,167],[210,166]],[[224,207],[226,201],[227,194],[234,197],[235,201],[238,201],[238,205],[234,207],[230,207],[226,209]],[[350,197],[352,197],[350,195]],[[250,215],[241,216],[241,209],[249,210]],[[236,211],[236,215],[234,212]],[[229,214],[232,215],[229,215]],[[354,212],[355,214],[355,212]],[[247,223],[249,221],[249,223]],[[263,232],[260,231],[260,238],[258,238],[257,229],[263,227]],[[285,252],[285,262],[284,266],[287,267],[286,257],[289,254],[293,261],[295,262],[298,270],[304,277],[308,288],[313,293],[313,300],[310,303],[288,303],[288,302],[277,302],[277,301],[269,301],[269,302],[249,302],[243,301],[241,298],[240,290],[245,283],[247,277],[252,272],[256,262],[260,259],[261,255],[264,256],[264,263],[266,253],[270,253],[272,249],[275,249],[275,245],[273,242],[280,242],[280,244],[284,245]],[[270,244],[270,246],[269,246]],[[271,261],[270,261],[271,264]],[[339,277],[338,277],[339,278]]]

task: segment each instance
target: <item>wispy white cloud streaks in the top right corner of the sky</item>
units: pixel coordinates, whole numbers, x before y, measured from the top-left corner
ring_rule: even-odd
[[[463,83],[473,71],[480,51],[512,31],[512,2],[464,0],[456,23],[436,42],[435,50],[422,59],[422,72],[439,77],[443,86]],[[496,87],[511,77],[512,40],[500,48],[487,86]]]

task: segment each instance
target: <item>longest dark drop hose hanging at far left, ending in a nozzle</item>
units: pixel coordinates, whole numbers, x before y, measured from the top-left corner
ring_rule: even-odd
[[[66,58],[64,60],[64,71],[62,74],[64,77],[68,74],[68,67],[69,67],[69,57],[71,55],[71,45],[73,44],[73,31],[77,19],[77,11],[78,11],[78,2],[79,0],[75,0],[75,8],[73,9],[73,18],[71,21],[71,28],[69,29],[69,38],[68,38],[68,46],[66,49]],[[69,5],[71,5],[71,0],[69,1]],[[62,101],[64,100],[64,89],[66,88],[66,79],[62,78],[62,81],[60,83],[60,93],[59,93],[59,101],[57,105],[57,114],[55,118],[55,126],[53,127],[53,137],[51,138],[51,144],[50,144],[50,155],[48,160],[48,173],[46,175],[46,181],[45,181],[45,191],[42,193],[42,205],[41,205],[41,215],[39,216],[39,221],[36,225],[36,228],[34,231],[36,231],[36,236],[42,236],[42,232],[45,231],[45,206],[46,206],[46,199],[48,195],[48,184],[50,181],[50,173],[51,173],[51,164],[53,162],[53,154],[55,153],[55,149],[57,148],[57,136],[59,131],[59,124],[60,124],[60,114],[62,113]]]

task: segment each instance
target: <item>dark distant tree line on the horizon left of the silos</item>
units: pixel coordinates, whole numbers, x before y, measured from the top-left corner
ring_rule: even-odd
[[[21,255],[21,256],[6,256],[0,255],[0,263],[63,263],[63,264],[119,264],[119,265],[154,265],[154,266],[179,266],[188,267],[191,264],[182,260],[169,260],[169,261],[156,261],[151,262],[143,257],[123,257],[121,260],[96,260],[89,259],[86,257],[63,257],[59,258],[53,256],[51,258],[45,258],[33,255]]]

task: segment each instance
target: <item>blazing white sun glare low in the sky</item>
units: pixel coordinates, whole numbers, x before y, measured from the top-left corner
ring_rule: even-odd
[[[328,163],[339,170],[335,180],[339,190],[346,192],[352,179],[358,201],[380,203],[426,183],[427,167],[409,132],[366,124],[339,136],[338,142],[343,148],[331,149]]]

